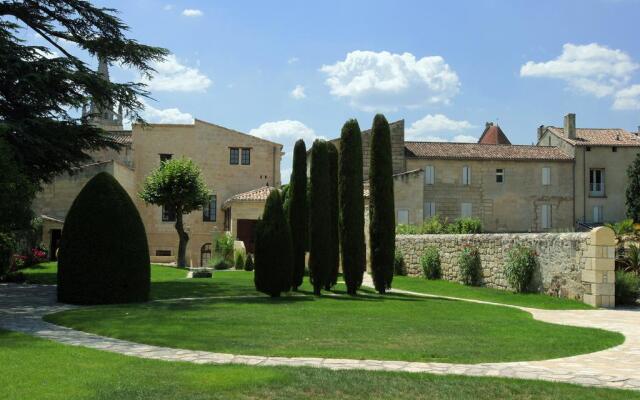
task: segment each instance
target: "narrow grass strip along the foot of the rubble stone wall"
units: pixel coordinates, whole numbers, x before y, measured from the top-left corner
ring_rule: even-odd
[[[460,297],[548,310],[588,310],[593,308],[577,300],[561,299],[537,293],[513,293],[506,290],[465,286],[457,282],[444,280],[394,276],[392,286],[394,289],[437,296]]]

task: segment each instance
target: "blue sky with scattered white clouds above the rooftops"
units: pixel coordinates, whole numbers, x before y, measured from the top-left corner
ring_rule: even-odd
[[[530,144],[568,112],[578,127],[640,125],[639,1],[100,4],[173,53],[150,82],[150,121],[279,141],[284,181],[297,137],[336,137],[352,117],[367,129],[376,111],[418,140],[471,140],[497,121]]]

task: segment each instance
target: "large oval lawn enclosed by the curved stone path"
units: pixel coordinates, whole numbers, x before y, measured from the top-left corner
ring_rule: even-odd
[[[252,274],[217,276],[244,287]],[[344,292],[100,306],[46,319],[139,343],[272,356],[477,363],[564,357],[623,342],[618,333],[547,324],[513,308]]]

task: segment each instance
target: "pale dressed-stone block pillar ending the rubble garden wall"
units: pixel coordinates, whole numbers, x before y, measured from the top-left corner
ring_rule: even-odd
[[[583,255],[584,302],[594,307],[615,307],[615,236],[607,227],[591,231]]]

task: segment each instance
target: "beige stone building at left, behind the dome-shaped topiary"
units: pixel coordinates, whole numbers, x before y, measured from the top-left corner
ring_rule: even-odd
[[[99,71],[108,79],[104,62],[100,62]],[[152,262],[175,261],[178,247],[175,216],[161,207],[144,204],[137,193],[161,161],[179,157],[188,157],[201,168],[212,193],[203,210],[184,218],[190,236],[187,262],[193,266],[206,264],[213,238],[225,231],[232,231],[246,247],[252,246],[253,228],[266,196],[253,199],[251,206],[236,201],[237,196],[256,188],[264,193],[264,188],[268,191],[280,186],[281,144],[198,119],[192,124],[134,124],[131,130],[125,130],[121,112],[105,111],[94,105],[84,112],[92,124],[107,130],[123,148],[120,152],[93,153],[91,163],[77,168],[73,174],[57,177],[38,194],[33,207],[47,221],[43,242],[49,246],[52,257],[55,258],[62,224],[73,200],[89,179],[106,171],[136,203],[147,231]]]

